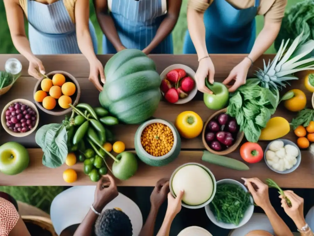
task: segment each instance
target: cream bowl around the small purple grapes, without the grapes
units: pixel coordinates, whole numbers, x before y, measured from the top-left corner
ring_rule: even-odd
[[[10,130],[7,125],[6,125],[6,119],[5,119],[5,112],[6,110],[8,109],[8,107],[13,104],[13,103],[17,103],[17,102],[20,102],[20,103],[23,103],[25,105],[28,105],[30,108],[32,108],[35,112],[36,112],[36,116],[37,116],[37,120],[36,120],[36,124],[35,126],[30,130],[30,131],[27,131],[25,133],[15,133],[13,132],[12,130]],[[21,137],[25,137],[27,135],[30,135],[32,132],[34,132],[38,126],[38,123],[39,123],[39,113],[38,113],[38,110],[35,106],[34,103],[32,103],[31,101],[29,100],[26,100],[26,99],[15,99],[11,102],[9,102],[8,104],[5,105],[5,107],[3,108],[2,110],[2,113],[1,113],[1,124],[2,124],[2,127],[4,128],[4,130],[14,136],[14,137],[18,137],[18,138],[21,138]]]

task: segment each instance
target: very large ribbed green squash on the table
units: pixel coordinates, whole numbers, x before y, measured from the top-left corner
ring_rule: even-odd
[[[108,60],[100,104],[127,124],[138,124],[157,110],[160,76],[154,61],[138,49],[124,49]]]

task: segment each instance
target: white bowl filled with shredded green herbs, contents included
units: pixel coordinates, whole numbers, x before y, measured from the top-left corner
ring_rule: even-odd
[[[246,187],[233,179],[217,181],[216,194],[205,211],[215,225],[235,229],[246,224],[253,215],[254,202]]]

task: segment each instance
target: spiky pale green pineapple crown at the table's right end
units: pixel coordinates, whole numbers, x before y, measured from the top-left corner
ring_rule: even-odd
[[[286,42],[282,40],[278,53],[267,66],[263,60],[264,70],[259,69],[256,73],[262,87],[282,89],[286,84],[290,85],[287,81],[298,79],[293,75],[295,72],[314,69],[314,57],[311,57],[314,40],[305,42],[302,36],[303,31],[287,50],[289,39]]]

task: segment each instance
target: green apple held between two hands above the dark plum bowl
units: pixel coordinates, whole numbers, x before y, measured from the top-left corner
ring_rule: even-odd
[[[225,108],[229,99],[228,88],[219,82],[214,82],[210,84],[208,79],[205,79],[205,84],[208,89],[210,89],[213,94],[204,93],[204,103],[205,105],[212,110],[220,110]]]

